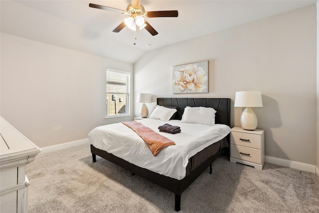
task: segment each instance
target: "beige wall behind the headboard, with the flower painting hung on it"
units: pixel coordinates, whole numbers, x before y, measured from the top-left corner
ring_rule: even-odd
[[[229,97],[257,90],[266,155],[316,164],[316,5],[149,51],[134,65],[134,92],[156,97]],[[209,20],[208,20],[209,22]],[[172,94],[172,66],[209,60],[209,93]],[[156,103],[148,104],[150,112]],[[232,102],[233,105],[233,102]],[[140,104],[135,103],[135,115]],[[240,126],[243,109],[232,108]]]

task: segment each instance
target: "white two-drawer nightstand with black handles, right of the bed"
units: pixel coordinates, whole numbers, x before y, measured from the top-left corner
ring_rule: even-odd
[[[265,164],[264,130],[244,130],[233,127],[230,133],[230,162],[241,163],[262,170]]]

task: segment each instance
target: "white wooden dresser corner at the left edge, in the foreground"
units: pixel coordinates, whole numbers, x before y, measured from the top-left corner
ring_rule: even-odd
[[[25,165],[41,151],[0,117],[0,213],[26,213],[29,182]]]

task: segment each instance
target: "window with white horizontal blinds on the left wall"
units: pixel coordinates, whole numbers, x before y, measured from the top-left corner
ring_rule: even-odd
[[[130,73],[106,70],[106,116],[130,114]]]

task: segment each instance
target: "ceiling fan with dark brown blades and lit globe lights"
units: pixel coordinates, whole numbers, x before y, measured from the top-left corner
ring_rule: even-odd
[[[159,34],[150,24],[147,22],[144,17],[153,18],[153,17],[177,17],[177,10],[162,10],[162,11],[145,11],[144,6],[141,4],[141,0],[132,0],[132,3],[126,7],[126,11],[122,9],[117,9],[110,6],[103,6],[99,4],[90,3],[90,7],[105,9],[114,12],[121,12],[124,15],[129,17],[125,18],[120,25],[118,25],[113,32],[121,31],[125,26],[128,26],[130,29],[136,31],[137,26],[141,29],[145,28],[153,36]]]

